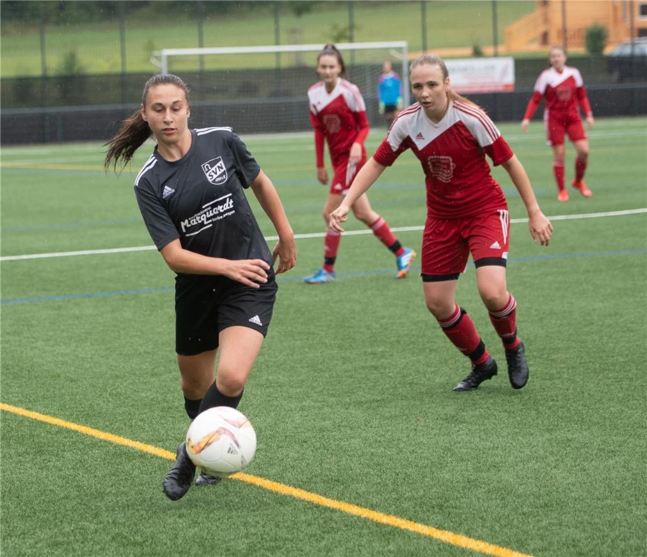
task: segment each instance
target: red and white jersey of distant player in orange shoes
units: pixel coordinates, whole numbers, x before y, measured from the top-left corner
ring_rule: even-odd
[[[582,76],[579,70],[572,66],[565,65],[561,72],[551,66],[539,74],[535,83],[535,92],[528,102],[524,118],[532,118],[542,97],[546,98],[547,113],[557,111],[577,113],[579,104],[586,116],[592,114]]]

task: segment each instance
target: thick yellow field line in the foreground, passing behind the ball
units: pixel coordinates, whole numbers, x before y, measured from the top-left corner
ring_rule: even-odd
[[[85,425],[68,422],[66,420],[61,420],[60,418],[54,418],[54,416],[47,416],[46,414],[39,414],[38,412],[26,410],[17,406],[7,405],[3,402],[0,402],[0,409],[8,412],[13,412],[13,414],[18,414],[19,416],[31,418],[33,420],[43,421],[52,425],[58,425],[59,427],[66,427],[66,429],[68,430],[91,435],[92,437],[102,439],[103,441],[109,441],[110,443],[135,448],[137,450],[141,450],[144,453],[149,453],[160,458],[175,460],[175,453],[172,453],[169,450],[158,448],[152,445],[147,445],[145,443],[140,443],[139,441],[133,441],[132,439],[127,439],[125,437],[119,437],[119,435],[113,435],[112,433],[96,430],[94,427],[87,427]],[[427,526],[426,524],[420,524],[418,522],[406,520],[394,515],[386,515],[383,512],[377,512],[376,510],[353,505],[352,503],[344,503],[344,501],[328,499],[328,497],[324,497],[316,493],[307,492],[305,491],[305,489],[298,489],[298,487],[291,487],[290,485],[274,482],[272,480],[266,480],[266,478],[260,478],[259,476],[252,476],[248,473],[238,472],[232,476],[229,476],[229,478],[252,485],[257,485],[259,487],[263,487],[264,489],[268,489],[268,491],[281,495],[295,497],[296,499],[301,499],[302,501],[307,501],[308,503],[313,503],[314,505],[321,505],[334,510],[339,510],[341,512],[346,512],[349,515],[355,515],[357,517],[369,519],[374,522],[378,522],[379,524],[385,524],[386,526],[392,526],[393,528],[401,528],[402,530],[409,530],[421,535],[426,535],[429,538],[434,538],[435,540],[440,540],[441,542],[452,544],[458,547],[463,547],[465,549],[471,549],[472,551],[478,551],[482,554],[492,555],[495,557],[531,557],[528,556],[528,554],[519,553],[519,551],[514,551],[506,547],[489,544],[487,542],[482,542],[481,540],[476,540],[475,538],[468,538],[464,535],[456,534],[447,530],[440,530],[439,528],[434,528],[433,526]]]

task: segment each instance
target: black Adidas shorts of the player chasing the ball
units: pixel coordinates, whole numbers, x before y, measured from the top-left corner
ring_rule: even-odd
[[[226,276],[180,274],[175,278],[175,350],[193,356],[218,348],[222,329],[240,325],[267,335],[278,285],[274,269],[261,288]]]

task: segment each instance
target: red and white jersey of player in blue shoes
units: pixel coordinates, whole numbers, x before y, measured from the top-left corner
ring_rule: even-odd
[[[333,166],[340,157],[347,157],[353,143],[361,143],[368,135],[366,104],[359,88],[346,79],[337,79],[333,91],[326,91],[323,81],[307,90],[310,123],[314,127],[317,167],[324,166],[324,138],[328,141]]]

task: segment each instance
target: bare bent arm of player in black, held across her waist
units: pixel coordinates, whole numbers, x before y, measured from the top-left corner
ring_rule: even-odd
[[[176,273],[220,274],[252,288],[267,282],[270,266],[262,259],[223,259],[203,256],[184,249],[180,240],[173,240],[160,249],[169,268]]]

